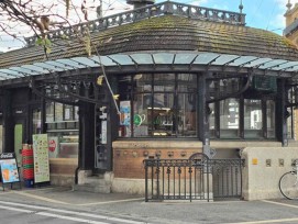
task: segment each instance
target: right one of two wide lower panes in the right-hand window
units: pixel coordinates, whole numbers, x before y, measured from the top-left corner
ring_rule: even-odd
[[[244,137],[262,137],[262,103],[261,100],[244,100]]]

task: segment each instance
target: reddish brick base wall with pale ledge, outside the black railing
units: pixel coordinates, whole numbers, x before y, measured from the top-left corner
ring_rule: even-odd
[[[181,141],[119,141],[113,143],[113,172],[115,178],[144,179],[143,160],[156,158],[186,159],[201,153],[201,142]]]

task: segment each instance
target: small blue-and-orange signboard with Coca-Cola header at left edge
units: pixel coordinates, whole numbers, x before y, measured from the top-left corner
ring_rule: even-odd
[[[13,153],[0,154],[0,168],[3,183],[20,182],[18,165]]]

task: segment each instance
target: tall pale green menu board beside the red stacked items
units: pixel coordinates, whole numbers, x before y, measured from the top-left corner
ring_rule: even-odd
[[[34,182],[49,181],[47,134],[33,135]]]

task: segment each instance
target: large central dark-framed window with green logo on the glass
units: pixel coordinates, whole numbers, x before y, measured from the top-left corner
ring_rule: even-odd
[[[197,76],[137,74],[119,79],[120,103],[131,101],[131,123],[119,136],[196,136]]]

